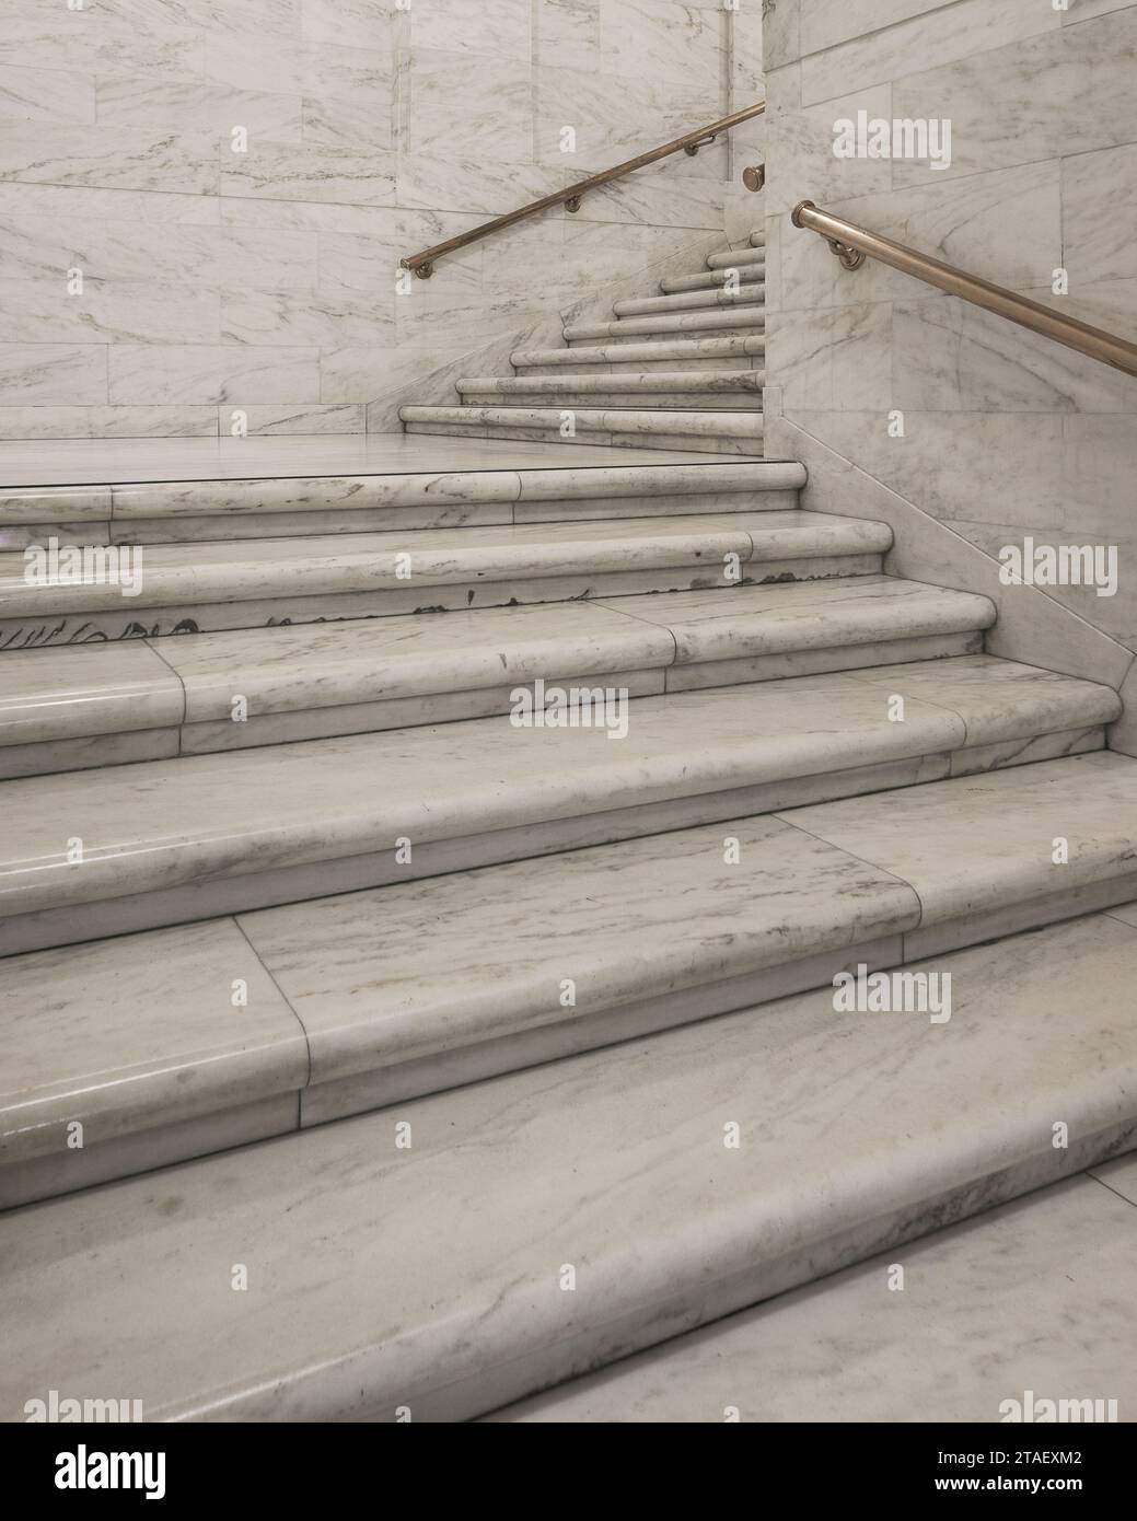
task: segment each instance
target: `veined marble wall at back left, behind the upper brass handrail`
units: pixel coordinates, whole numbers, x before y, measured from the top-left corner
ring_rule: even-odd
[[[3,0],[0,437],[359,430],[721,233],[715,146],[396,289],[402,254],[753,99],[758,8]]]

